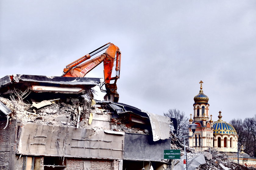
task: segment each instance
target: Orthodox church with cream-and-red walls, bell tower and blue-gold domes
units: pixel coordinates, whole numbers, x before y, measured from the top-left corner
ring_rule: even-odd
[[[222,152],[237,152],[237,140],[235,128],[222,120],[219,111],[219,120],[213,121],[212,115],[209,118],[209,98],[203,93],[202,81],[198,95],[194,97],[194,117],[190,114],[189,123],[197,124],[193,137],[189,138],[189,146],[196,151],[204,151],[209,147],[214,147]],[[210,120],[209,120],[210,119]],[[189,130],[191,136],[193,132]]]

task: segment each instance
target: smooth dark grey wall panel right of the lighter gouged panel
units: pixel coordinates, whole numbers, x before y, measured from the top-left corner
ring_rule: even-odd
[[[125,134],[125,159],[161,161],[165,149],[170,149],[169,139],[153,141],[151,135]]]

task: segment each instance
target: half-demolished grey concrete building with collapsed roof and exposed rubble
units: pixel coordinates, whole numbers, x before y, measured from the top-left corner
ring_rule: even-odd
[[[0,169],[167,168],[170,119],[93,100],[98,78],[12,75],[0,79]]]

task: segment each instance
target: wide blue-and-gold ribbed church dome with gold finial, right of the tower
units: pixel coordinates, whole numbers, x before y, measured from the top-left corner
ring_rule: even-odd
[[[212,127],[213,127],[213,134],[234,134],[236,135],[236,130],[235,128],[229,124],[229,123],[226,123],[226,122],[223,122],[221,120],[222,116],[220,114],[221,112],[219,112],[219,120],[217,122],[214,122]]]

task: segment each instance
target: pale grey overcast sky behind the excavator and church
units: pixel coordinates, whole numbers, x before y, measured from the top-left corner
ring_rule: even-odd
[[[108,42],[122,52],[119,102],[189,117],[202,80],[214,121],[256,114],[256,1],[0,1],[1,78],[61,76]]]

